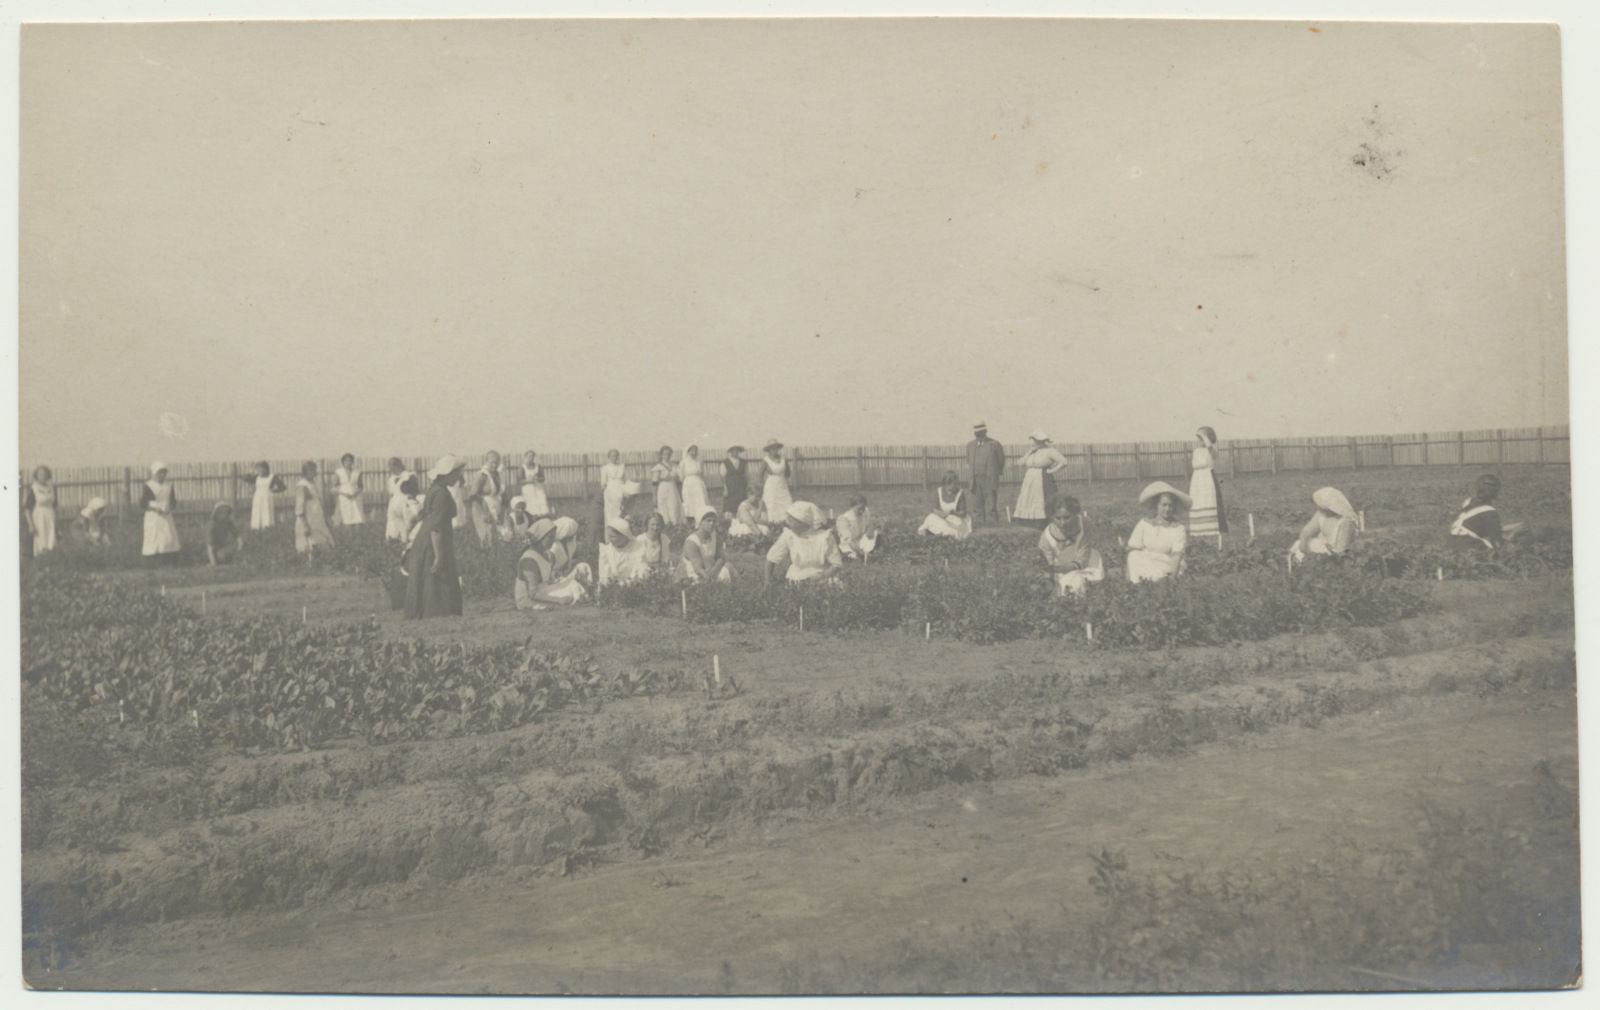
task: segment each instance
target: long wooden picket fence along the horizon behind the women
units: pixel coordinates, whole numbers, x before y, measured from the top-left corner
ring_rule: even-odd
[[[1006,471],[1002,487],[1021,482],[1016,459],[1027,445],[1006,445]],[[1131,480],[1149,477],[1187,477],[1194,442],[1118,442],[1058,443],[1067,459],[1061,477],[1072,483],[1096,480]],[[931,487],[946,471],[966,479],[965,445],[858,445],[813,447],[787,450],[794,461],[795,488],[890,488]],[[754,453],[758,458],[758,451]],[[520,451],[502,453],[506,466],[522,463]],[[722,488],[723,450],[702,450],[701,466],[706,485]],[[464,456],[470,469],[483,464],[483,456]],[[605,453],[539,453],[544,466],[546,493],[552,501],[587,501],[598,493],[600,466]],[[656,461],[653,451],[622,453],[629,475],[640,479]],[[1402,435],[1334,435],[1309,439],[1235,439],[1218,450],[1218,469],[1229,475],[1277,474],[1280,471],[1358,471],[1400,466],[1493,467],[1502,464],[1568,464],[1570,429],[1506,427],[1456,432],[1419,432]],[[291,493],[277,496],[278,520],[291,519],[293,488],[306,459],[267,459],[274,474],[283,477]],[[317,485],[331,506],[333,471],[338,459],[314,459]],[[426,471],[432,458],[406,458],[408,467]],[[389,498],[386,477],[389,459],[366,456],[355,461],[363,474],[366,511],[381,519]],[[90,498],[110,503],[112,514],[130,519],[138,506],[144,467],[83,466],[59,467],[56,499],[64,515],[82,509]],[[254,463],[174,463],[168,471],[176,485],[181,515],[203,515],[218,501],[242,509],[248,522],[254,493]]]

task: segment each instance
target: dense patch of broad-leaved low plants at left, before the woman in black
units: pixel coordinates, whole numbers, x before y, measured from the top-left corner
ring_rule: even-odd
[[[235,749],[506,730],[563,706],[672,691],[683,671],[605,674],[589,656],[392,640],[374,621],[202,618],[150,592],[29,573],[22,679],[50,704],[134,723],[189,720]]]

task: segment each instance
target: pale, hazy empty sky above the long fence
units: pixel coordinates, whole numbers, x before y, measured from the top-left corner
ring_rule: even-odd
[[[46,26],[21,112],[26,464],[1568,418],[1544,26]]]

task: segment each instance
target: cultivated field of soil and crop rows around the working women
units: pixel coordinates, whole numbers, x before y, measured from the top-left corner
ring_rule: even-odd
[[[712,605],[747,600],[707,594],[685,619],[677,591],[666,607],[538,615],[491,592],[469,597],[462,619],[405,623],[354,549],[315,568],[272,544],[232,570],[51,559],[32,597],[24,583],[27,980],[350,992],[1566,984],[1566,471],[1504,471],[1502,512],[1534,528],[1523,560],[1453,567],[1445,581],[1368,563],[1442,567],[1437,541],[1470,477],[1336,482],[1366,512],[1363,555],[1299,581],[1278,575],[1280,547],[1328,475],[1229,482],[1235,535],[1221,555],[1197,547],[1187,587],[1099,587],[1179,616],[1094,645],[1075,613],[1051,634],[922,619],[930,600],[978,610],[981,579],[995,600],[1024,592],[1037,535],[912,546],[926,501],[907,491],[867,491],[891,552],[846,586],[850,600],[904,592],[904,611],[811,610],[803,632],[781,600],[722,621]],[[1136,488],[1074,491],[1112,552]],[[845,495],[819,498],[842,507]],[[755,565],[738,559],[750,599]],[[1317,615],[1330,586],[1387,602]],[[106,669],[134,647],[126,671]],[[706,682],[712,656],[723,685]]]

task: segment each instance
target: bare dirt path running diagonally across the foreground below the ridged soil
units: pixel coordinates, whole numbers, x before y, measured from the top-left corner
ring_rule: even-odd
[[[1563,786],[1576,783],[1574,730],[1562,691],[1414,696],[1181,760],[946,786],[875,818],[774,820],[765,837],[704,855],[126,928],[34,981],[341,992],[960,989],[941,975],[944,952],[979,936],[1026,941],[1040,924],[1094,908],[1085,858],[1093,848],[1125,848],[1144,872],[1259,871],[1315,858],[1334,831],[1410,839],[1419,794],[1533,823],[1538,762]],[[1525,887],[1546,901],[1576,880],[1573,836],[1530,842],[1542,848],[1528,860]],[[1501,967],[1498,954],[1514,952],[1478,951],[1478,975],[1430,981],[1482,981],[1482,970]]]

